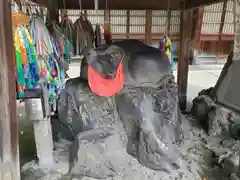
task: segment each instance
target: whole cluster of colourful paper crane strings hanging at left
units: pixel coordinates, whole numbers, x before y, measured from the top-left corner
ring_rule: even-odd
[[[38,16],[31,18],[30,32],[23,25],[14,31],[16,94],[23,98],[26,89],[47,83],[48,100],[52,103],[65,82],[60,59],[70,62],[72,45],[56,25],[50,34]]]

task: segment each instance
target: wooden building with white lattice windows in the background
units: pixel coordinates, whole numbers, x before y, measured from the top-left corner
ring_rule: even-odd
[[[198,9],[199,24],[196,34],[200,38],[198,50],[198,64],[224,63],[233,48],[233,1],[224,1]],[[60,10],[61,12],[61,10]],[[79,17],[80,10],[67,10],[69,19],[74,23]],[[86,10],[86,14],[93,27],[104,25],[104,10]],[[113,40],[139,39],[146,37],[146,10],[110,10]],[[151,44],[158,46],[164,35],[164,26],[168,19],[167,10],[152,10]],[[59,16],[61,20],[61,15]],[[180,10],[171,10],[169,21],[169,35],[174,43],[175,56],[179,50],[180,40]],[[199,31],[199,29],[201,31]]]

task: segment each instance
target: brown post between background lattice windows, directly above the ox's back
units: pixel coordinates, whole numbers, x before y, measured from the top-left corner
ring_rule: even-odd
[[[145,24],[145,42],[152,44],[152,10],[146,11],[146,24]]]

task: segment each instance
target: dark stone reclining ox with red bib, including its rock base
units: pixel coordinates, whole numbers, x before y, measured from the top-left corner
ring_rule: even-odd
[[[166,54],[154,47],[124,40],[86,52],[58,112],[61,127],[53,132],[74,141],[74,176],[116,176],[127,157],[157,171],[179,168],[177,86]]]

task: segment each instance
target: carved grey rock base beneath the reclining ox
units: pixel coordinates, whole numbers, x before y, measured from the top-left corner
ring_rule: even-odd
[[[66,83],[65,91],[60,95],[58,112],[60,123],[64,124],[65,130],[60,128],[55,129],[54,132],[62,134],[61,137],[72,135],[75,144],[79,144],[79,146],[74,146],[75,153],[71,155],[73,159],[79,159],[77,157],[85,146],[81,145],[83,140],[79,137],[85,137],[85,134],[90,132],[97,133],[99,128],[113,128],[124,144],[122,152],[126,151],[127,147],[127,152],[142,165],[165,172],[179,168],[179,152],[175,144],[180,136],[182,115],[178,106],[177,86],[172,76],[169,79],[166,78],[159,88],[126,86],[116,97],[108,98],[92,93],[87,82],[79,78],[70,79]],[[65,134],[66,132],[68,133]],[[89,148],[88,152],[97,154],[94,159],[100,163],[99,167],[105,167],[105,161],[98,157],[110,152],[107,150],[105,152],[105,149],[101,152],[91,152],[91,149],[99,149],[96,137],[85,137],[89,139],[86,144]],[[70,139],[71,137],[68,138]],[[115,139],[118,144],[121,144],[121,141]],[[108,138],[103,138],[101,142],[109,147],[113,144]],[[115,155],[116,159],[117,157]],[[75,170],[71,171],[74,174],[78,170],[80,174],[88,172],[96,178],[100,178],[97,174],[102,174],[103,177],[111,174],[107,170],[105,172],[107,174],[100,172],[96,174],[98,171],[92,165],[84,167],[87,170],[83,171],[82,159],[84,158],[81,157],[77,161],[76,166],[73,163]],[[92,162],[92,164],[98,164],[97,162]],[[79,167],[78,170],[76,167]],[[116,168],[113,167],[113,169]]]

